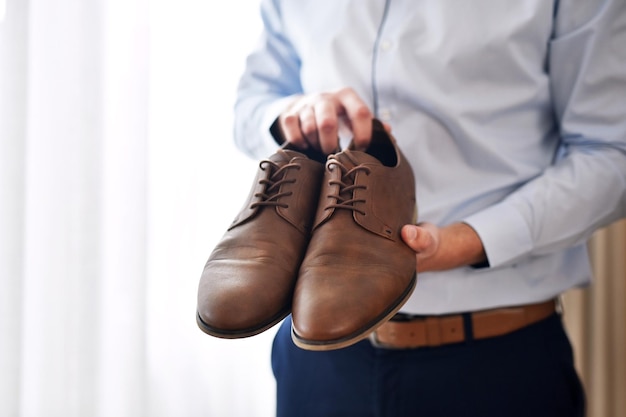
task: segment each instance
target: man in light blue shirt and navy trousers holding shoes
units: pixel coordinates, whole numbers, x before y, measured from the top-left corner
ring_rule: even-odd
[[[346,125],[366,148],[372,118],[382,120],[412,165],[419,206],[419,223],[402,229],[418,284],[392,322],[464,326],[452,343],[373,338],[312,352],[292,343],[286,319],[272,354],[279,416],[584,414],[551,300],[590,282],[586,240],[626,215],[625,9],[262,1],[238,146],[255,158],[285,141],[329,154]],[[550,314],[481,333],[485,317],[504,328],[538,305]]]

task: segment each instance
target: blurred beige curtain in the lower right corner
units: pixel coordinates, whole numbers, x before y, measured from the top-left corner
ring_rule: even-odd
[[[626,220],[589,246],[595,278],[564,297],[565,324],[587,391],[588,417],[626,416]]]

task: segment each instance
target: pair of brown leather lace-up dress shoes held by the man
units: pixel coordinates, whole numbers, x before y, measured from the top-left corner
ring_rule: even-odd
[[[252,336],[292,313],[308,350],[366,338],[416,283],[400,229],[416,220],[413,172],[374,120],[367,150],[328,156],[286,144],[262,161],[247,202],[207,261],[197,323]],[[325,161],[325,164],[324,164]]]

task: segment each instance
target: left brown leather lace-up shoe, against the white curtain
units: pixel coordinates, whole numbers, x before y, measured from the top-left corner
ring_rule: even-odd
[[[260,163],[244,208],[200,278],[202,331],[223,338],[253,336],[289,314],[325,160],[321,153],[287,144]]]

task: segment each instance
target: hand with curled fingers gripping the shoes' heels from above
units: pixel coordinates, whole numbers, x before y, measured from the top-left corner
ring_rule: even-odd
[[[352,131],[357,149],[366,149],[372,135],[372,112],[352,88],[299,96],[279,115],[283,139],[299,148],[326,154],[338,147],[340,119]]]

